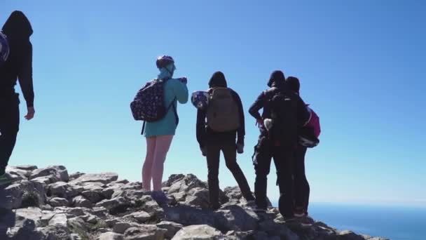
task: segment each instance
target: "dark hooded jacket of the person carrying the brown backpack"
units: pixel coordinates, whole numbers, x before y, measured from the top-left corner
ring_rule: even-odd
[[[222,72],[215,72],[212,78],[209,81],[209,88],[227,88],[228,84],[226,83],[225,76]],[[212,131],[212,129],[206,126],[206,115],[207,111],[198,110],[197,112],[197,140],[200,147],[204,147],[207,140],[234,140],[235,134],[238,136],[237,142],[244,144],[245,137],[245,119],[244,119],[244,109],[242,108],[242,102],[238,93],[233,91],[233,98],[237,102],[240,109],[240,128],[237,131],[230,131],[226,133],[218,133]]]

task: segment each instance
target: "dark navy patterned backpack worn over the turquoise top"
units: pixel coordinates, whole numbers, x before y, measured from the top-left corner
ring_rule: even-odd
[[[164,103],[164,84],[168,79],[154,79],[140,89],[130,103],[133,118],[139,121],[158,121],[163,119],[171,106],[165,107]]]

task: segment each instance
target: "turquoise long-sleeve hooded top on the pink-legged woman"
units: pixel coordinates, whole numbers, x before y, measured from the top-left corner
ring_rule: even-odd
[[[169,75],[169,76],[167,76]],[[170,77],[167,71],[161,69],[158,79]],[[164,101],[165,106],[168,107],[173,104],[177,110],[177,102],[185,104],[188,102],[188,87],[186,84],[179,81],[179,79],[169,79],[164,84]],[[154,122],[146,122],[145,137],[153,137],[158,135],[174,135],[176,133],[176,116],[174,116],[173,107],[170,107],[167,114],[163,119]]]

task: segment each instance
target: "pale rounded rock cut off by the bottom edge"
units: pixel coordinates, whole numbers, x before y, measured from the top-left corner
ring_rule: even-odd
[[[210,227],[209,225],[193,225],[180,229],[172,240],[217,240],[221,237],[224,238],[224,234],[221,234],[214,227]]]

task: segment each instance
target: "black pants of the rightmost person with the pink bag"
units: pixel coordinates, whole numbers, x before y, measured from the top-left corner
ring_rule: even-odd
[[[298,145],[294,158],[294,203],[297,209],[308,212],[309,182],[305,174],[306,147]]]

